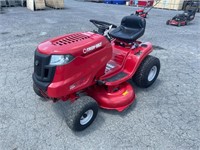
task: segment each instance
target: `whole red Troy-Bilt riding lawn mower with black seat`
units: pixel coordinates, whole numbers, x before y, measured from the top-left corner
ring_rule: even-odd
[[[38,45],[34,56],[33,89],[54,102],[69,100],[66,122],[81,131],[96,118],[98,107],[127,109],[135,100],[130,80],[141,88],[151,86],[160,61],[151,56],[150,42],[138,40],[144,18],[125,16],[120,26],[90,20],[97,28],[52,38]]]

